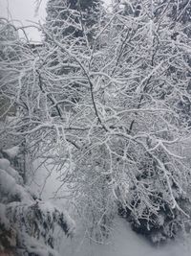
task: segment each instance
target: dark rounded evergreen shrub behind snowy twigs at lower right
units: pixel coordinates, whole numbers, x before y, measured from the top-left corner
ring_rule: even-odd
[[[164,158],[162,160],[167,161]],[[166,175],[170,175],[170,166],[166,165],[165,168]],[[184,174],[184,181],[177,179],[178,176],[174,174],[170,179],[167,176],[164,179],[165,173],[161,171],[155,160],[147,158],[147,161],[141,162],[136,176],[137,186],[129,188],[128,206],[118,206],[119,215],[131,223],[132,229],[154,244],[175,238],[180,231],[189,232],[191,227],[189,170]],[[181,187],[180,182],[183,182]]]

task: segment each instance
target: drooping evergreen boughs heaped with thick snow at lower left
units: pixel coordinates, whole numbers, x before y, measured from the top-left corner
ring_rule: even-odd
[[[74,221],[50,202],[38,200],[7,159],[0,159],[0,253],[56,255],[55,231],[74,233]]]

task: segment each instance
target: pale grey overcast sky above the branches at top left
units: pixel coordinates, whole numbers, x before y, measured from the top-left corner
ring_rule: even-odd
[[[12,19],[15,25],[22,22],[23,25],[29,25],[39,20],[43,22],[46,16],[46,3],[48,0],[42,0],[40,10],[35,14],[36,0],[0,0],[0,16]],[[111,2],[111,0],[104,0],[105,2]],[[33,28],[27,30],[28,36],[33,41],[40,40],[40,33]]]

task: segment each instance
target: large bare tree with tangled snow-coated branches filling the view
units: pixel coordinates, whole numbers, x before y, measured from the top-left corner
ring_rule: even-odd
[[[61,2],[39,49],[7,43],[1,91],[19,110],[6,130],[52,159],[90,237],[117,209],[155,241],[174,237],[190,219],[191,3],[95,5],[86,22],[80,1]]]

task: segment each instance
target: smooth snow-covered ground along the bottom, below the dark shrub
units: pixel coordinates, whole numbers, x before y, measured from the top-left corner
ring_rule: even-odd
[[[79,231],[73,240],[64,239],[60,256],[190,256],[191,239],[178,240],[162,246],[149,244],[131,230],[129,223],[117,218],[114,233],[108,244],[95,244]],[[64,253],[63,253],[64,252]]]

